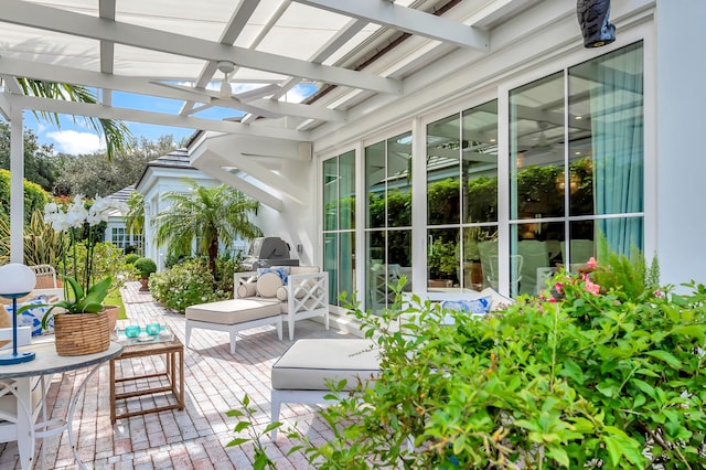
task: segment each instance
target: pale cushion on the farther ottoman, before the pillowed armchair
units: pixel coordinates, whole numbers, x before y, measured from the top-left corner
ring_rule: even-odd
[[[278,300],[231,299],[186,307],[186,320],[237,324],[280,314]]]

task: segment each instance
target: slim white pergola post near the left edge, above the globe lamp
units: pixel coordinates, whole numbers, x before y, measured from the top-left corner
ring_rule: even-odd
[[[22,108],[11,108],[10,128],[10,263],[24,261],[24,124]]]

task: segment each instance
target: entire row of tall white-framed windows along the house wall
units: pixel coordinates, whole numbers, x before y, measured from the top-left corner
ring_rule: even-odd
[[[402,275],[407,289],[425,275],[411,267],[422,241],[428,289],[491,286],[512,296],[537,293],[559,268],[580,269],[603,243],[623,254],[644,248],[642,43],[507,93],[509,114],[495,99],[428,124],[426,152],[417,152],[424,177],[413,179],[411,132],[365,147],[364,227],[354,226],[353,152],[324,162],[332,299],[354,287],[355,235],[364,237],[359,289],[371,310],[391,305]],[[509,119],[502,136],[499,116]],[[427,220],[414,227],[413,180],[427,195]]]

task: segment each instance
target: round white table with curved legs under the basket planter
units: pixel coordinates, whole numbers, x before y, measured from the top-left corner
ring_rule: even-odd
[[[122,354],[122,344],[110,342],[106,351],[74,356],[61,356],[56,354],[53,342],[30,344],[19,348],[18,351],[32,351],[36,354],[33,361],[21,364],[0,366],[0,389],[6,388],[17,398],[17,429],[18,449],[20,451],[20,464],[22,469],[31,469],[34,459],[35,438],[53,436],[64,430],[68,430],[68,442],[74,451],[76,462],[81,468],[86,468],[78,449],[74,442],[72,419],[76,402],[81,396],[86,383],[98,371],[98,367],[114,357]],[[33,414],[36,406],[32,404],[32,382],[36,377],[44,375],[76,371],[78,368],[93,367],[84,378],[76,393],[72,396],[68,412],[65,419],[52,419],[34,423]],[[44,402],[46,389],[42,383],[42,402]],[[44,406],[44,404],[42,404]]]

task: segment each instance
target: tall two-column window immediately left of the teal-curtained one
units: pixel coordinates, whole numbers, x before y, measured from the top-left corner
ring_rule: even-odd
[[[427,126],[427,268],[435,288],[498,287],[498,102]]]

